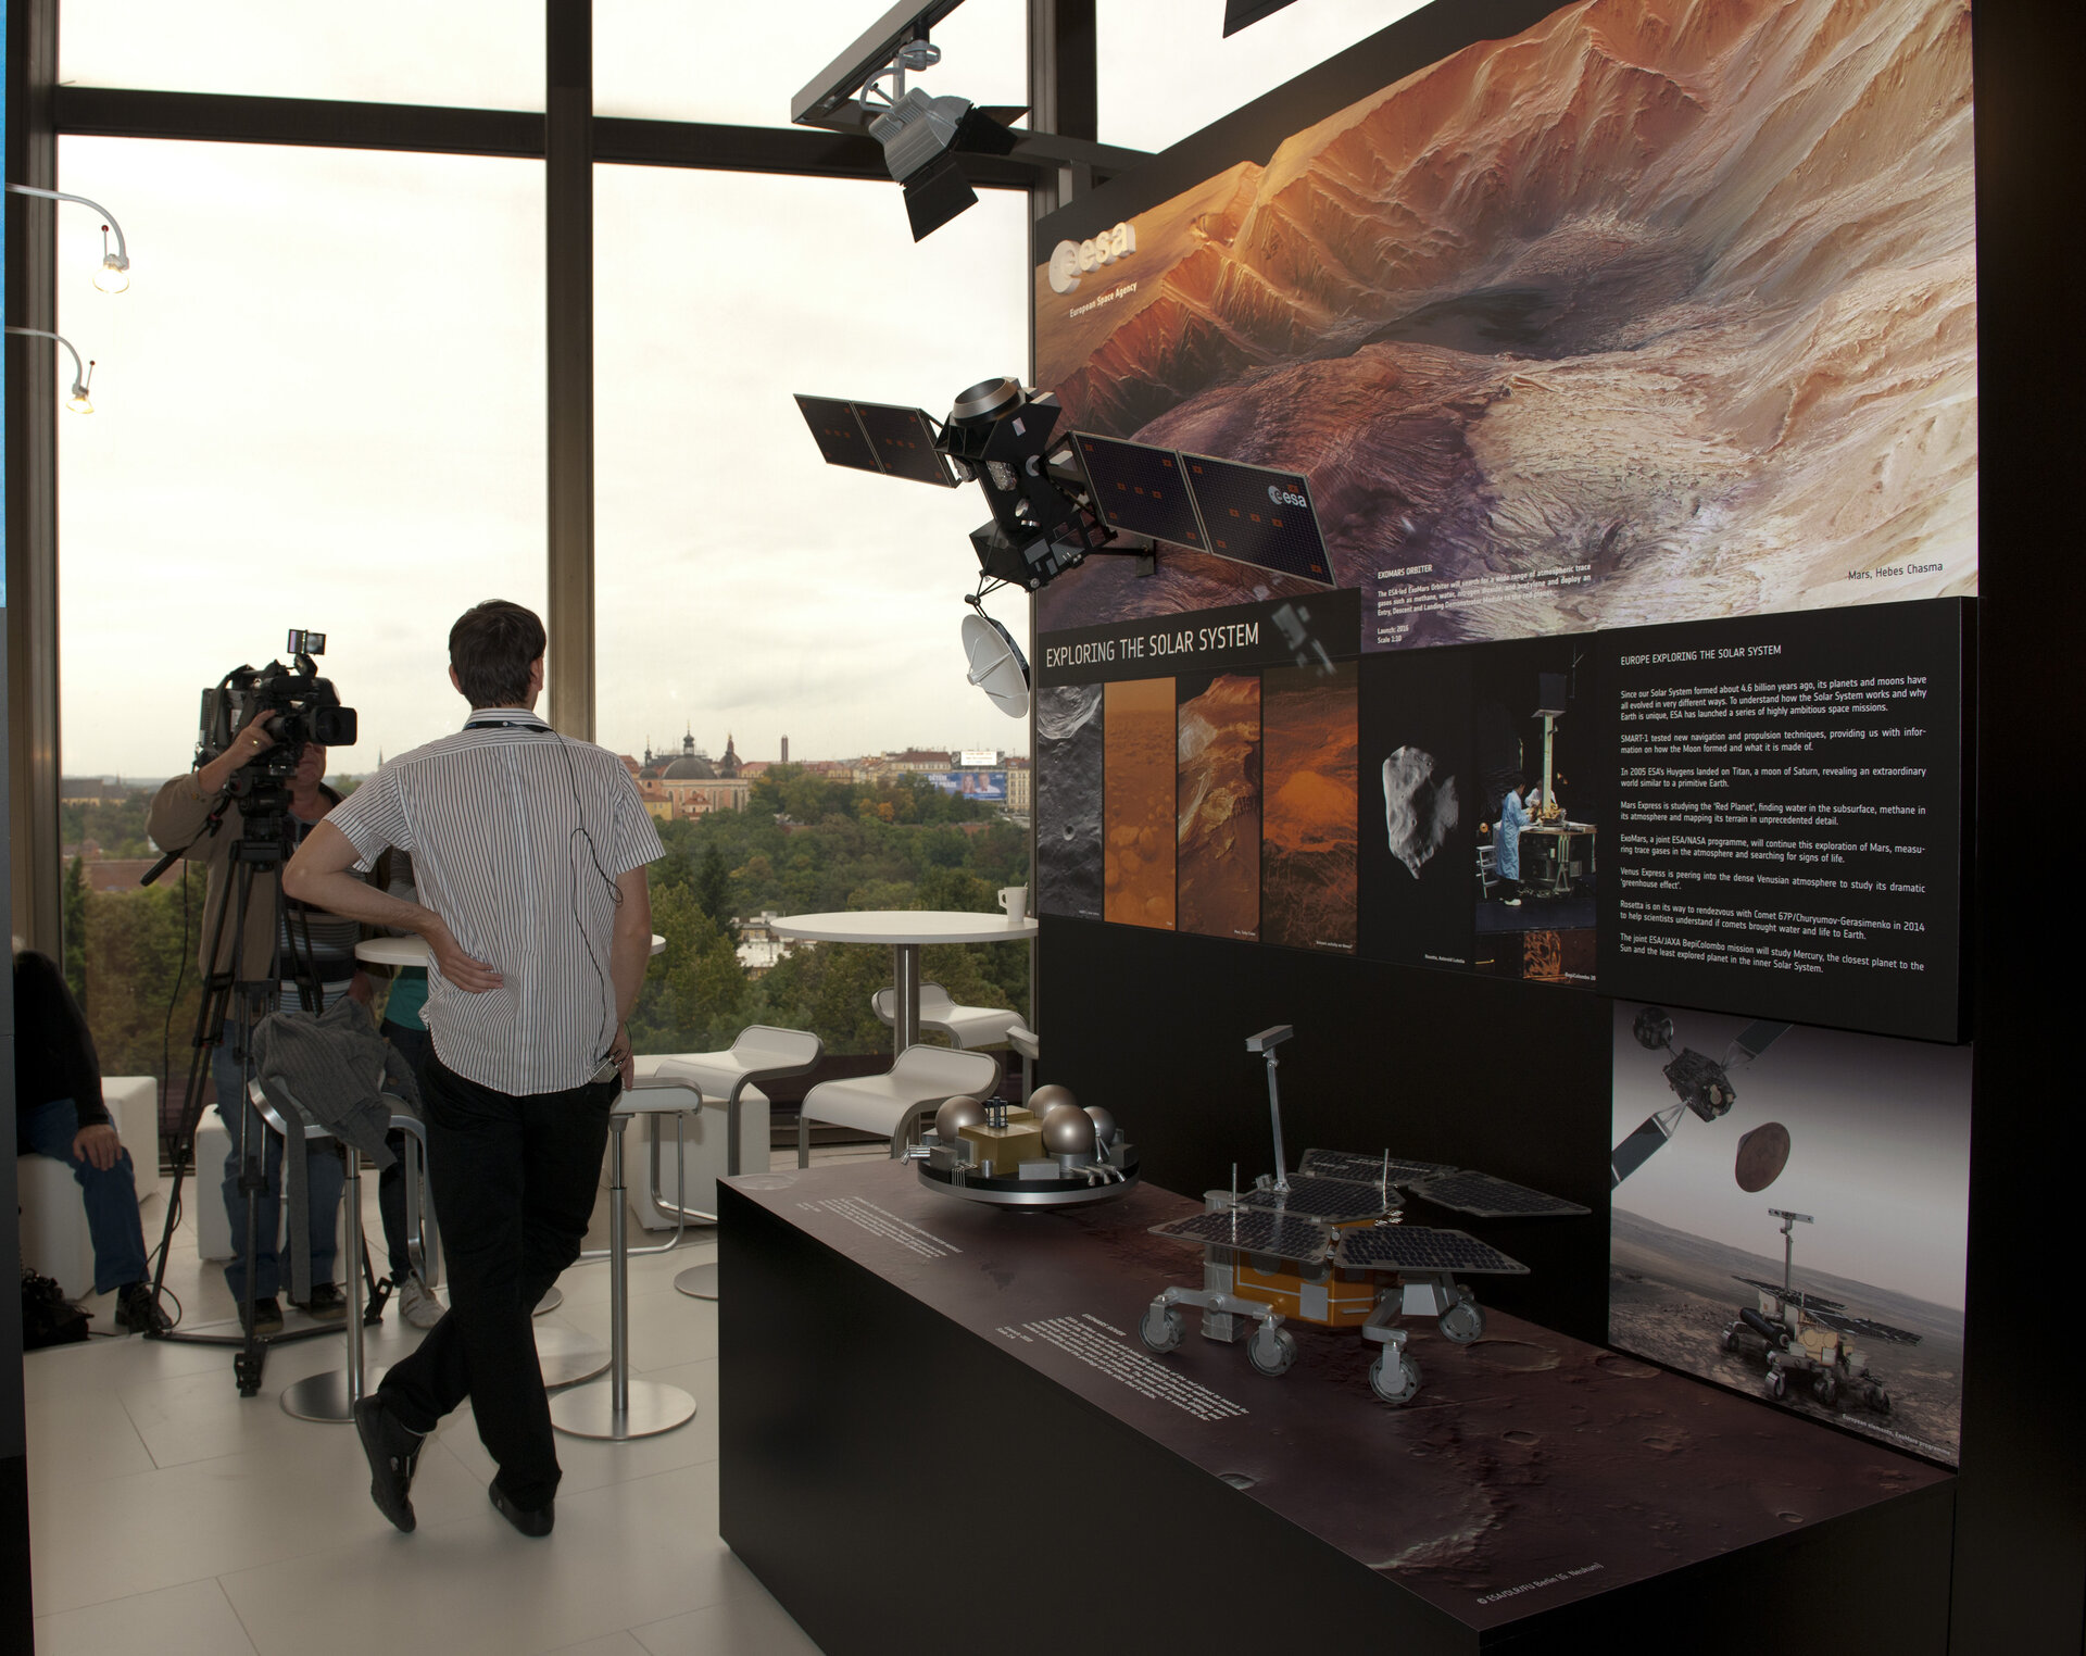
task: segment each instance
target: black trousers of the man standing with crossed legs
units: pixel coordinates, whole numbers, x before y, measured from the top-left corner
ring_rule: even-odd
[[[526,1512],[551,1502],[559,1477],[530,1314],[580,1256],[620,1091],[609,1078],[515,1097],[428,1055],[421,1114],[448,1316],[392,1366],[382,1395],[413,1431],[469,1397],[501,1489]]]

